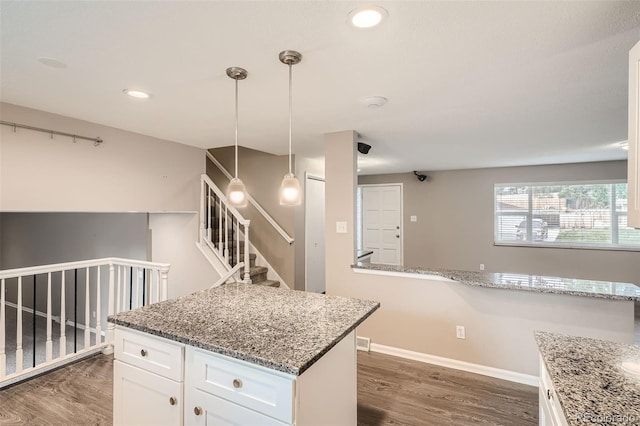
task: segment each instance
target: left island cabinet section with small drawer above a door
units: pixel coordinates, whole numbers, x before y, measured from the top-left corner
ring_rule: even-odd
[[[114,353],[113,424],[182,425],[184,346],[117,327]]]

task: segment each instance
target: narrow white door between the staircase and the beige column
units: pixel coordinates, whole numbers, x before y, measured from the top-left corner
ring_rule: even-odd
[[[305,176],[305,289],[324,293],[324,179]]]

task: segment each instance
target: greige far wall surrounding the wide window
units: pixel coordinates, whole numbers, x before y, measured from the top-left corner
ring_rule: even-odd
[[[640,283],[640,252],[505,247],[493,244],[493,185],[626,179],[626,161],[360,176],[360,184],[402,182],[404,263]],[[417,222],[410,222],[417,216]]]

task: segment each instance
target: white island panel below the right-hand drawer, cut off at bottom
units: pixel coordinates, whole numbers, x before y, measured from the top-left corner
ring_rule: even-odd
[[[194,387],[186,390],[184,420],[189,426],[284,426],[287,424]]]

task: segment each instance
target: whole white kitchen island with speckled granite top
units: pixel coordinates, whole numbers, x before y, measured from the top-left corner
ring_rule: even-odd
[[[109,318],[114,424],[356,424],[378,302],[229,284]]]

